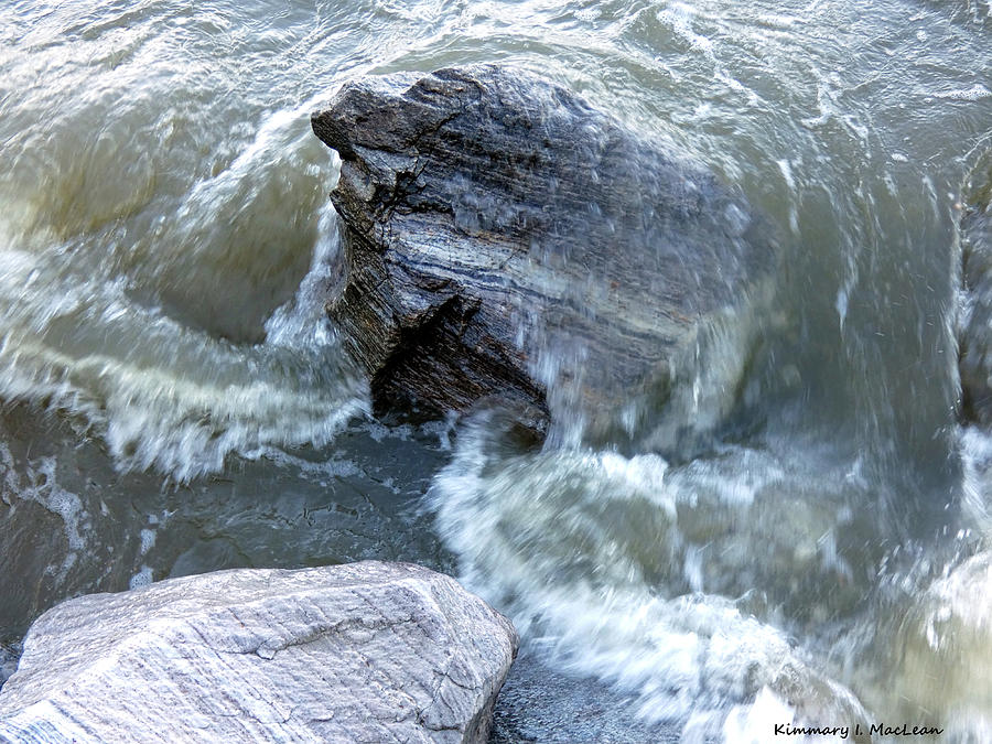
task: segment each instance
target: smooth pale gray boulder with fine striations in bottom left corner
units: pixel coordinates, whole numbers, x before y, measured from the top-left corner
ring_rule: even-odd
[[[173,579],[42,615],[0,741],[485,742],[517,643],[412,564]]]

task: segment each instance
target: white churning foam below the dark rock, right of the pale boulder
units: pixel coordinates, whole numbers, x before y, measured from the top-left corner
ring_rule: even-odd
[[[804,573],[829,585],[843,571],[823,540],[835,513],[800,513],[787,537],[762,535],[794,505],[768,502],[784,477],[770,457],[735,452],[671,471],[653,454],[500,456],[499,427],[489,414],[462,432],[431,503],[464,581],[552,662],[634,694],[646,719],[691,720],[707,736],[763,689],[798,700],[797,716],[866,719],[787,633],[752,614],[746,589],[740,600],[726,599],[733,581],[708,590],[733,573],[774,596]],[[758,526],[735,535],[745,518]],[[779,540],[787,556],[769,550]]]

